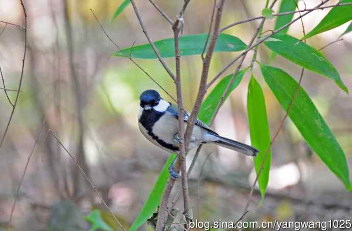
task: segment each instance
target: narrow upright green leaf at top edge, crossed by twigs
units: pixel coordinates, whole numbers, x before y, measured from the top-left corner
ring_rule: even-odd
[[[279,13],[284,13],[284,12],[291,12],[296,10],[296,2],[297,0],[282,0],[280,7],[279,7]],[[275,26],[274,30],[278,30],[279,28],[283,27],[283,25],[286,25],[290,21],[292,21],[294,14],[286,14],[286,15],[281,15],[281,16],[276,16],[276,21],[275,21]],[[282,31],[280,31],[280,34],[287,34],[289,27],[286,27]],[[276,57],[276,53],[271,53],[270,55],[270,61],[274,61]]]

